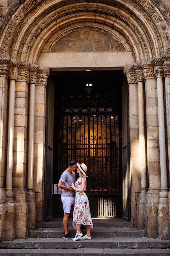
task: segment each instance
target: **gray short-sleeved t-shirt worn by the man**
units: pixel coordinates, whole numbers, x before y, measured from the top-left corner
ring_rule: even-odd
[[[64,171],[59,181],[62,181],[64,186],[67,186],[70,188],[72,183],[75,183],[75,172],[72,172],[72,175],[70,175],[67,171]],[[75,197],[75,191],[62,189],[61,195]]]

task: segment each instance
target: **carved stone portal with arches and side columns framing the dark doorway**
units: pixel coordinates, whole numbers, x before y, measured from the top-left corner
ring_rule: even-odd
[[[129,61],[137,63],[131,67],[124,68],[130,88],[132,221],[135,225],[138,224],[138,227],[145,227],[144,216],[142,215],[146,212],[147,236],[157,237],[159,230],[159,237],[162,239],[167,238],[168,230],[164,232],[164,223],[161,221],[166,219],[167,216],[163,216],[162,219],[159,218],[158,225],[158,210],[159,212],[163,211],[161,203],[165,202],[165,208],[167,207],[167,183],[164,182],[166,171],[160,172],[158,147],[160,134],[158,136],[158,122],[154,124],[152,119],[154,117],[155,120],[158,119],[156,88],[157,84],[159,85],[162,82],[163,64],[165,87],[168,88],[169,85],[170,27],[168,16],[161,8],[157,7],[158,2],[158,0],[115,0],[114,2],[103,0],[99,3],[93,3],[92,1],[82,3],[78,0],[25,0],[22,4],[18,2],[4,19],[0,30],[0,79],[3,88],[2,99],[5,102],[2,104],[2,138],[6,137],[7,124],[9,129],[7,148],[5,141],[3,141],[1,147],[1,188],[3,198],[1,209],[6,219],[11,218],[13,220],[10,227],[6,227],[5,230],[3,226],[1,227],[2,232],[5,234],[5,239],[26,237],[26,230],[35,228],[36,221],[41,222],[43,219],[46,82],[49,76],[49,67],[59,67],[59,62],[55,62],[56,66],[52,62],[52,66],[50,66],[49,62],[46,62],[44,58],[46,59],[47,55],[51,55],[52,58],[59,57],[59,53],[52,55],[49,52],[52,46],[64,35],[80,28],[101,30],[101,32],[111,35],[119,45],[122,45],[124,52],[109,53],[110,55],[112,54],[112,58],[117,55],[117,59],[119,58],[119,53],[125,53],[125,58],[128,56],[128,60],[124,59],[124,57],[121,58],[123,61],[118,64],[118,67],[123,68],[126,64],[131,64]],[[100,55],[99,52],[96,52],[95,56],[97,54]],[[86,59],[88,59],[88,55],[86,56]],[[100,61],[102,61],[102,56],[100,56]],[[101,64],[99,63],[96,57],[92,67],[100,66]],[[48,67],[42,68],[44,64],[48,64]],[[81,64],[82,62],[79,61],[77,66],[79,67]],[[109,65],[109,67],[115,67],[115,62],[110,61]],[[88,65],[88,67],[90,66]],[[155,68],[155,73],[153,67]],[[141,159],[143,161],[141,163],[145,163],[144,166],[139,167],[136,148],[139,147],[139,144],[143,145],[143,150],[145,148],[145,140],[142,137],[140,138],[138,132],[141,129],[140,131],[144,137],[143,77],[145,79],[146,99],[148,98],[146,101],[147,120],[145,120],[147,124],[147,153],[143,154],[144,157]],[[9,99],[7,97],[8,78],[10,80]],[[150,90],[153,90],[153,97],[149,94],[151,93]],[[161,99],[162,97],[163,95],[161,95]],[[20,98],[22,98],[22,104]],[[152,100],[149,101],[149,98],[152,98]],[[142,110],[140,114],[140,111],[138,112],[139,99],[139,110]],[[7,120],[8,100],[9,116]],[[166,104],[169,106],[169,98]],[[138,129],[138,122],[140,129]],[[39,123],[40,126],[38,126]],[[29,128],[27,128],[27,124],[29,124]],[[29,139],[26,136],[27,129]],[[153,132],[154,139],[152,137]],[[27,145],[28,151],[26,150]],[[156,158],[153,157],[153,154],[156,154]],[[146,155],[149,186],[147,186],[146,180]],[[27,164],[28,168],[26,167]],[[167,170],[165,166],[161,168]],[[4,183],[3,178],[5,173],[6,183]],[[28,179],[27,189],[25,189],[26,177]],[[33,177],[36,181],[34,181],[34,184]],[[143,183],[141,183],[141,180],[143,180]],[[157,183],[154,183],[154,180]],[[136,183],[138,186],[136,186]],[[6,188],[6,193],[4,188]],[[161,201],[159,201],[160,188],[163,189],[160,194]],[[141,202],[140,200],[138,202],[138,196],[141,198]],[[4,210],[5,204],[6,209],[8,209],[6,212]],[[138,207],[138,204],[141,206]],[[14,207],[16,212],[14,212]],[[28,211],[27,207],[29,207]],[[156,213],[152,212],[152,207],[155,207],[154,211]],[[138,209],[142,209],[141,216],[138,214],[140,212]],[[154,223],[150,221],[153,215],[155,216]],[[28,225],[27,216],[29,218]],[[23,223],[22,231],[18,228],[20,221]]]

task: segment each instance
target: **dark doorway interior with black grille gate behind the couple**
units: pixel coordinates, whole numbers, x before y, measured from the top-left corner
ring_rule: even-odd
[[[122,216],[122,117],[118,71],[60,71],[54,82],[53,216],[62,216],[57,184],[67,162],[88,166],[92,216]],[[91,86],[92,84],[92,86]]]

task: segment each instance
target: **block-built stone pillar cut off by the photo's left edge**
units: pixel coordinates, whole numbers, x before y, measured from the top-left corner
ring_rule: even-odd
[[[5,223],[5,167],[7,134],[9,59],[0,58],[0,241],[4,239]]]

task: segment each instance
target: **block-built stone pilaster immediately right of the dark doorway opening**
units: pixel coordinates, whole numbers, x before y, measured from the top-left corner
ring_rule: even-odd
[[[137,225],[138,194],[141,191],[139,166],[139,126],[138,126],[138,85],[135,70],[124,67],[129,84],[129,132],[130,132],[130,178],[131,178],[131,220]]]

